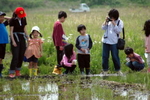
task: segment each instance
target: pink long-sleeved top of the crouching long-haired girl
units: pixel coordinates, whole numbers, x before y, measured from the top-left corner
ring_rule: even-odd
[[[67,56],[64,54],[60,63],[61,63],[61,65],[65,65],[66,67],[71,67],[72,61],[75,59],[76,59],[76,53],[75,52],[73,52],[73,55],[71,56],[70,59],[68,59]]]

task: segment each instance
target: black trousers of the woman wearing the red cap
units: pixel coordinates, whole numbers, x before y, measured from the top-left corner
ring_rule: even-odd
[[[14,36],[17,47],[14,47],[11,42],[12,60],[9,73],[14,73],[15,70],[20,70],[22,66],[24,53],[26,50],[26,40],[23,35],[18,35],[18,38],[19,41],[17,41],[16,37]]]

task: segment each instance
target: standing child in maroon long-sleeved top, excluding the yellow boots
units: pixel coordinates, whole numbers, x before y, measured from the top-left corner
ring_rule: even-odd
[[[61,24],[61,23],[65,22],[66,18],[67,18],[66,12],[60,11],[58,13],[58,20],[54,23],[54,27],[53,27],[52,38],[53,38],[53,42],[54,42],[54,45],[55,45],[56,51],[57,51],[58,65],[60,65],[60,62],[62,60],[63,48],[66,44],[65,38],[63,38],[63,36],[65,36],[65,32],[64,32],[62,24]]]

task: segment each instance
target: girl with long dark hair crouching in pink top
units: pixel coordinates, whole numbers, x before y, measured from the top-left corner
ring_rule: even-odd
[[[76,67],[76,54],[73,51],[73,44],[64,47],[64,55],[60,64],[66,69],[64,74],[72,73]]]

